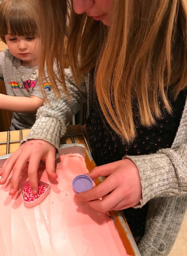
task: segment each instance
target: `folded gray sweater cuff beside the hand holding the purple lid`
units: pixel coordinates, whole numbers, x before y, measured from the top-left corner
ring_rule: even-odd
[[[142,198],[135,208],[141,208],[156,197],[178,194],[174,167],[165,154],[125,156],[124,158],[129,158],[135,163],[140,175]]]

